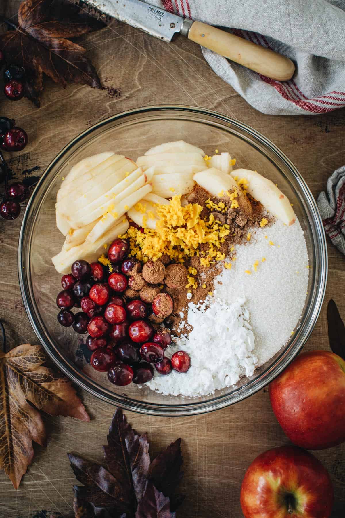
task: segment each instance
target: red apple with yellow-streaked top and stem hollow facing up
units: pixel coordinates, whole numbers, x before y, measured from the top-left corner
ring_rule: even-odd
[[[262,453],[242,481],[245,518],[328,518],[332,505],[327,470],[311,453],[295,446]]]

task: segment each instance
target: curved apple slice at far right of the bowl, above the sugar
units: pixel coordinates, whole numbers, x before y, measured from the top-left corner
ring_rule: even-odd
[[[231,172],[231,176],[238,180],[245,178],[248,182],[246,184],[248,193],[283,223],[292,225],[296,221],[289,199],[271,180],[250,169],[235,169]]]

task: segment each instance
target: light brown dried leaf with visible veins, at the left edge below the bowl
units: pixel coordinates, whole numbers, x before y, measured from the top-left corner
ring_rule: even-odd
[[[38,410],[90,420],[69,380],[42,367],[46,361],[41,347],[28,343],[0,352],[0,468],[16,489],[34,457],[32,441],[46,445]]]

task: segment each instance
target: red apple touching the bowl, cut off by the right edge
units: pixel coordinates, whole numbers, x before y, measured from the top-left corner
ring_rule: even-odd
[[[289,439],[307,450],[345,441],[345,362],[328,351],[299,355],[269,385],[269,398]]]

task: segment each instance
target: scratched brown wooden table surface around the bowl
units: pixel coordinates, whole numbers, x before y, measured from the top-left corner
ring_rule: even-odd
[[[2,0],[6,16],[16,13],[17,0]],[[3,9],[0,9],[3,11]],[[1,115],[14,118],[29,137],[25,150],[7,154],[16,177],[34,169],[39,177],[54,156],[76,135],[114,113],[153,104],[186,104],[217,110],[254,127],[271,139],[299,169],[314,196],[331,172],[345,164],[345,110],[321,116],[268,116],[254,110],[203,59],[200,47],[179,37],[168,45],[113,20],[103,31],[80,39],[99,71],[103,91],[81,85],[59,88],[44,78],[41,108],[27,99],[11,103],[1,98]],[[0,85],[0,90],[3,86]],[[35,181],[36,179],[34,178]],[[3,185],[1,186],[3,190]],[[24,212],[24,208],[22,213]],[[23,307],[17,273],[17,244],[22,222],[0,221],[0,316],[8,347],[37,343]],[[325,302],[305,349],[329,349],[326,307],[333,298],[345,320],[345,257],[327,240],[329,271]],[[75,482],[67,452],[102,460],[114,407],[83,392],[90,423],[44,416],[48,447],[35,444],[35,459],[15,491],[0,473],[1,518],[31,518],[39,510],[72,516]],[[148,431],[151,452],[182,437],[187,498],[178,518],[240,518],[239,490],[244,473],[261,452],[289,441],[278,425],[267,390],[223,410],[186,418],[162,418],[127,413],[141,433]],[[332,518],[345,508],[345,443],[316,452],[331,473],[335,490]]]

